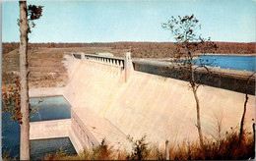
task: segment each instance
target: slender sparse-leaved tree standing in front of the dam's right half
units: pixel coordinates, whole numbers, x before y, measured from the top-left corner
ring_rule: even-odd
[[[206,67],[203,60],[195,59],[197,53],[205,54],[206,52],[214,52],[217,49],[217,45],[211,41],[211,38],[205,39],[201,34],[197,33],[201,29],[201,25],[198,25],[199,21],[192,16],[185,16],[174,18],[171,17],[167,23],[161,25],[162,28],[169,29],[173,34],[175,40],[176,49],[173,55],[172,63],[178,66],[179,74],[183,80],[187,80],[192,88],[193,95],[196,101],[197,111],[197,123],[200,145],[204,145],[204,137],[201,126],[200,116],[200,101],[197,94],[197,89],[202,84],[200,75],[195,75],[195,71],[199,71],[199,68],[205,70],[201,76],[208,74],[209,70]],[[200,63],[195,66],[195,63]],[[174,66],[173,66],[174,67]],[[202,71],[202,70],[201,70]]]

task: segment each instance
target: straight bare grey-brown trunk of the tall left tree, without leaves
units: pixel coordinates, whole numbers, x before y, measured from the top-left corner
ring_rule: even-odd
[[[21,124],[20,159],[30,160],[30,105],[28,84],[28,32],[27,2],[20,1],[20,82],[21,82]]]

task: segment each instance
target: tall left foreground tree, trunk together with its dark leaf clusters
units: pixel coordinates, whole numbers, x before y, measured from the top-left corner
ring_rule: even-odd
[[[29,72],[28,72],[28,34],[32,32],[34,20],[41,17],[42,6],[30,5],[27,8],[26,1],[20,1],[20,88],[21,88],[21,110],[17,110],[21,123],[21,160],[30,160],[30,103],[29,103]],[[29,17],[28,17],[29,15]],[[29,19],[28,19],[29,18]],[[30,25],[32,27],[30,27]]]

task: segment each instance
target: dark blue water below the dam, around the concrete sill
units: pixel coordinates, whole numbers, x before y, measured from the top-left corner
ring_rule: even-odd
[[[70,105],[62,96],[31,98],[30,102],[32,107],[38,107],[38,112],[32,114],[32,122],[70,118]],[[19,158],[20,125],[10,119],[11,115],[10,112],[2,114],[2,153],[9,151],[12,158]],[[31,156],[32,159],[38,159],[46,153],[55,153],[60,148],[67,150],[70,154],[76,153],[69,138],[55,138],[32,140]]]

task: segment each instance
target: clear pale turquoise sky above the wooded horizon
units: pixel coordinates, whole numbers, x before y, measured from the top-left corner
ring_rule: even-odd
[[[174,41],[161,27],[194,14],[213,41],[255,42],[254,0],[28,1],[42,5],[30,42]],[[2,4],[2,41],[20,41],[19,2]]]

